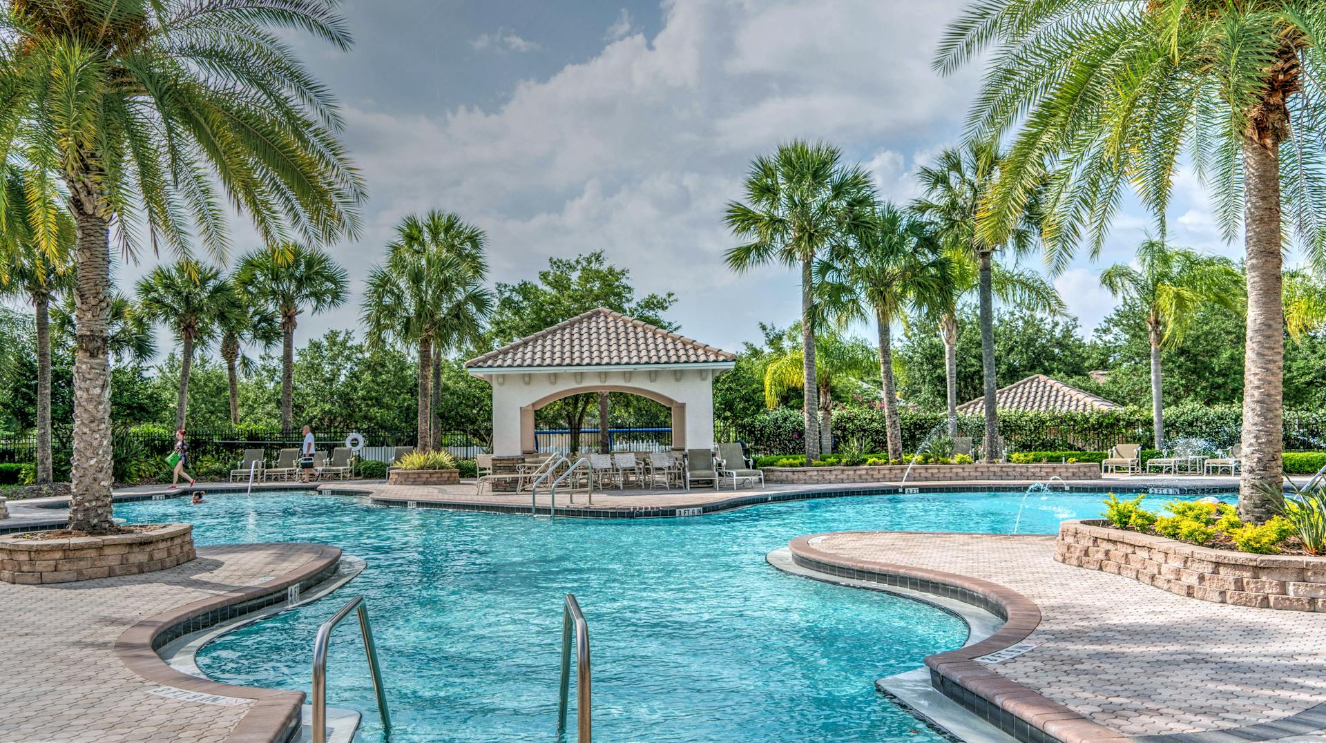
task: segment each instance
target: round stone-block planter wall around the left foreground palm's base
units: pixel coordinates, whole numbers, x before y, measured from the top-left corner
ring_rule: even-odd
[[[192,524],[162,524],[151,532],[72,539],[0,536],[0,581],[72,582],[164,571],[196,556],[192,531]]]

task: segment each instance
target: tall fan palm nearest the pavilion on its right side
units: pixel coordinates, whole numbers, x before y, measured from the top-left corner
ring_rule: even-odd
[[[830,248],[869,228],[875,206],[870,175],[842,165],[842,153],[823,143],[793,141],[751,163],[747,202],[731,202],[725,222],[739,239],[727,251],[733,271],[769,263],[801,267],[801,360],[805,383],[806,459],[819,455],[815,397],[814,263]]]

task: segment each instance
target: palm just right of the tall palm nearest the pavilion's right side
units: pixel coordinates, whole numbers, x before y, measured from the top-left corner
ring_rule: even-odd
[[[821,261],[819,284],[827,313],[839,324],[874,320],[879,334],[879,377],[884,403],[888,458],[902,459],[903,433],[898,421],[894,381],[892,324],[904,318],[922,297],[952,283],[948,257],[937,249],[926,226],[894,204],[880,204],[873,227],[855,248]]]

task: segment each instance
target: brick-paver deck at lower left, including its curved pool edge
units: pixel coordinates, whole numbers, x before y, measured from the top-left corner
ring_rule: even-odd
[[[313,544],[199,548],[175,568],[57,585],[0,582],[0,740],[269,740],[302,693],[184,675],[151,649],[178,620],[243,597],[284,594],[335,564]]]

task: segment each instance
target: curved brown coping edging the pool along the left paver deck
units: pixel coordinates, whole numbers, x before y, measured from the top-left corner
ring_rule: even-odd
[[[253,545],[200,548],[202,556],[225,551],[241,552]],[[138,677],[186,693],[253,699],[253,706],[227,736],[229,743],[272,743],[290,740],[298,734],[304,706],[302,691],[284,691],[252,686],[235,686],[198,678],[171,667],[156,650],[190,632],[215,625],[284,601],[288,589],[305,589],[326,580],[337,569],[341,549],[326,544],[300,544],[308,548],[309,560],[273,580],[248,585],[168,609],[138,621],[115,640],[115,655]]]

